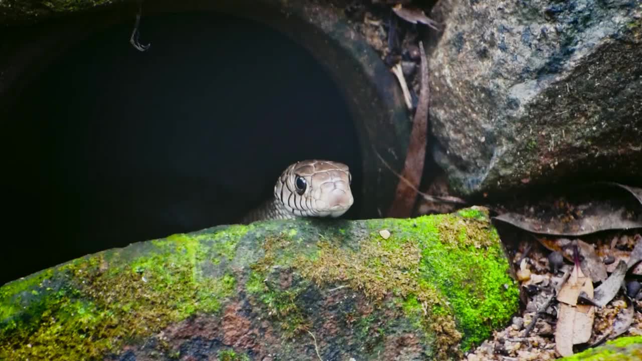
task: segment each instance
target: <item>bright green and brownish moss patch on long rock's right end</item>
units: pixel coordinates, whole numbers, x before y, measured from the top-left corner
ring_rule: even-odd
[[[375,301],[401,297],[406,317],[426,331],[426,342],[440,345],[440,357],[456,344],[462,351],[479,344],[516,312],[519,291],[483,210],[367,222],[370,240],[360,249],[320,242],[297,268],[318,285],[347,283]],[[392,230],[387,240],[381,229]]]

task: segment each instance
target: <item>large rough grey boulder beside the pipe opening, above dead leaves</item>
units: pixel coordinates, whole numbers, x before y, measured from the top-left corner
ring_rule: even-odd
[[[435,159],[462,194],[642,175],[642,3],[442,0]]]

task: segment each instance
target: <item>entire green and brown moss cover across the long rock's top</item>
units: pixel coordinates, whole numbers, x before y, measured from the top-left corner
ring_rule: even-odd
[[[254,227],[260,228],[248,239]],[[0,288],[0,338],[10,340],[0,342],[0,359],[100,357],[189,315],[219,313],[236,288],[245,288],[248,301],[263,308],[282,335],[295,337],[315,317],[303,306],[314,297],[315,283],[348,286],[374,305],[366,315],[345,311],[346,319],[356,312],[355,334],[366,348],[383,347],[388,330],[410,324],[413,332],[423,331],[422,343],[437,358],[485,339],[517,309],[517,288],[483,210],[351,227],[311,220],[216,227],[139,243],[122,254],[103,252],[10,283]],[[384,240],[381,229],[391,236]],[[365,238],[353,243],[353,233]],[[248,246],[254,242],[263,247]],[[225,273],[248,263],[251,271],[238,279]],[[31,309],[24,312],[24,306]],[[390,311],[405,317],[390,328],[376,323]],[[69,348],[55,347],[61,343]]]

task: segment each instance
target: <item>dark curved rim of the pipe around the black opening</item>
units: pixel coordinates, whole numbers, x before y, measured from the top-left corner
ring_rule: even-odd
[[[76,12],[71,20],[52,13],[57,33],[46,31],[46,26],[33,31],[30,25],[19,26],[27,30],[21,33],[21,40],[39,42],[4,46],[8,48],[5,53],[13,53],[0,60],[0,73],[8,73],[0,77],[0,114],[8,109],[12,98],[19,96],[21,87],[24,89],[66,49],[94,31],[123,22],[125,16],[132,19],[133,26],[136,10],[135,1],[125,0]],[[394,76],[340,8],[315,0],[148,0],[143,4],[142,26],[145,16],[177,12],[222,12],[247,18],[274,28],[306,48],[331,75],[354,119],[363,172],[358,213],[361,218],[385,216],[399,182],[388,167],[401,173],[411,123]],[[39,19],[44,20],[45,16]]]

